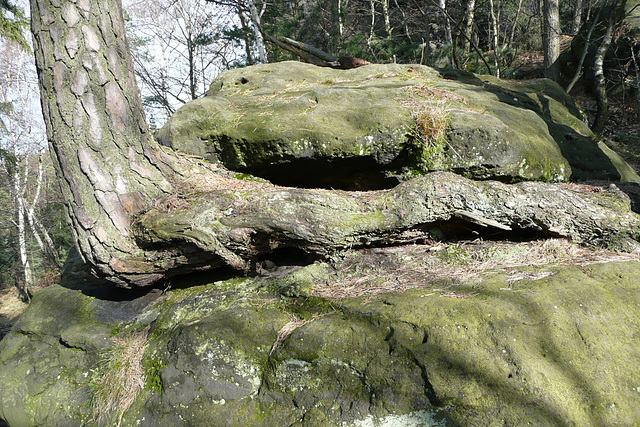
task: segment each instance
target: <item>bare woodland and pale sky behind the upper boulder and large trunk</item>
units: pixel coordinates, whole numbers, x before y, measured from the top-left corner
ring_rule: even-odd
[[[123,3],[151,129],[202,96],[221,71],[297,58],[276,44],[293,39],[372,63],[454,67],[508,79],[550,77],[576,97],[592,128],[638,164],[640,42],[624,23],[633,2]],[[0,0],[0,290],[28,300],[58,280],[73,242],[48,154],[27,9]]]

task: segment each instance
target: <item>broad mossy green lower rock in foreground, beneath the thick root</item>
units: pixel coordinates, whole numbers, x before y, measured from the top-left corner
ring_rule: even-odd
[[[490,252],[511,259],[525,253],[518,248]],[[454,249],[439,255],[444,267],[477,256]],[[122,425],[640,422],[640,262],[315,296],[314,284],[397,281],[422,256],[390,254],[129,300],[96,296],[89,282],[47,288],[0,342],[0,417],[12,426],[117,422],[92,413],[94,371],[117,338],[142,331],[144,387]]]

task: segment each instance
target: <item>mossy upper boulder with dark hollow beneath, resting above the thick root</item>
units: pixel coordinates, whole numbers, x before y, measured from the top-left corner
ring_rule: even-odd
[[[555,83],[420,65],[227,71],[158,139],[289,186],[388,188],[434,170],[509,182],[638,179]]]

